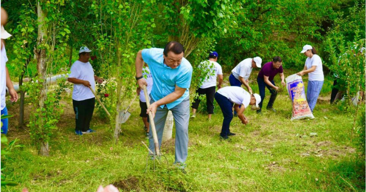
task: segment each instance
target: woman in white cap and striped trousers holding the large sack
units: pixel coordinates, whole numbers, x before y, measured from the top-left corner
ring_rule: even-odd
[[[316,54],[315,48],[311,45],[305,45],[300,53],[304,53],[307,59],[304,69],[297,74],[300,76],[309,74],[306,99],[311,112],[313,112],[324,83],[323,64],[320,57]]]

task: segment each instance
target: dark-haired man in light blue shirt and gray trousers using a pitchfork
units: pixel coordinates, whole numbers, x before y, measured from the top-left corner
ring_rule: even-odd
[[[142,78],[143,63],[149,65],[153,75],[153,88],[150,93],[150,107],[154,116],[159,147],[168,111],[175,120],[175,164],[184,169],[188,155],[189,90],[193,68],[183,57],[183,45],[176,41],[168,42],[164,49],[150,48],[139,50],[136,56],[136,80],[139,87],[145,84]],[[153,135],[149,135],[149,148],[154,149]]]

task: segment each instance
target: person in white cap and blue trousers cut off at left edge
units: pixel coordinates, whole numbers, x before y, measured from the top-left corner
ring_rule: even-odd
[[[4,26],[1,25],[1,40],[9,38],[11,35],[5,31]],[[9,94],[10,94],[10,101],[16,102],[18,101],[18,94],[14,90],[13,83],[10,80],[9,71],[7,69],[6,62],[8,61],[8,57],[6,56],[5,45],[3,41],[1,41],[1,56],[0,56],[0,100],[1,100],[1,115],[7,115],[8,109],[6,108],[5,103],[5,94],[6,94],[6,87],[8,87]],[[8,118],[1,119],[1,133],[7,134],[8,133]]]

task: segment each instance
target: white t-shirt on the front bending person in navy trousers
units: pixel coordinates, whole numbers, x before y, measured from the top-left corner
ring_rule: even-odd
[[[217,90],[217,93],[224,95],[226,98],[228,98],[231,102],[235,104],[238,105],[243,104],[245,108],[247,108],[247,106],[250,103],[250,94],[242,87],[237,86],[223,87]]]

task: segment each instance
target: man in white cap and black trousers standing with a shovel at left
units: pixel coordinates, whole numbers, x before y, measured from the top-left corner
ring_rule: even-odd
[[[95,90],[95,81],[102,83],[103,79],[94,75],[93,67],[89,63],[90,52],[87,47],[79,50],[79,59],[71,66],[68,81],[74,83],[72,90],[72,105],[75,112],[75,133],[93,133],[90,121],[94,112],[95,96],[90,88]],[[90,88],[89,88],[90,87]]]

